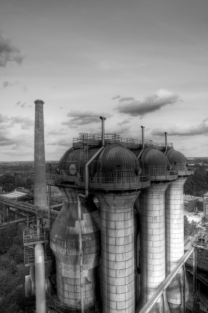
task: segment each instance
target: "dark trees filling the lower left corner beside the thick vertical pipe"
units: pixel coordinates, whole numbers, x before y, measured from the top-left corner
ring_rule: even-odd
[[[25,298],[23,229],[19,223],[0,229],[0,312],[28,313],[35,311],[35,297]]]

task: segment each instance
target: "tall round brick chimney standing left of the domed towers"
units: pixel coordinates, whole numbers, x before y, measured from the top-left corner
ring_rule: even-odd
[[[34,204],[45,207],[45,144],[43,100],[35,100],[35,149],[34,149]]]

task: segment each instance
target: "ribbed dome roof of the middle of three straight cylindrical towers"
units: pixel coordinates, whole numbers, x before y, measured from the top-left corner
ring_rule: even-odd
[[[160,169],[160,170],[167,170],[169,166],[169,161],[167,156],[160,150],[154,149],[152,147],[147,147],[142,152],[140,157],[140,165],[145,170],[152,169]]]

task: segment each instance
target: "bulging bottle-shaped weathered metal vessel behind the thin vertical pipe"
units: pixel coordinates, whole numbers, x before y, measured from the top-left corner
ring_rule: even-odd
[[[61,188],[63,208],[53,223],[50,245],[56,258],[57,297],[68,308],[81,307],[78,192]],[[84,307],[99,300],[100,226],[93,197],[81,200]]]

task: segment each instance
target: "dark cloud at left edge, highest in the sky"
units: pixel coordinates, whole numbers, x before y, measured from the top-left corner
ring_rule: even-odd
[[[4,39],[0,34],[0,67],[5,67],[8,62],[21,64],[24,56],[20,49],[11,43],[9,39]]]

